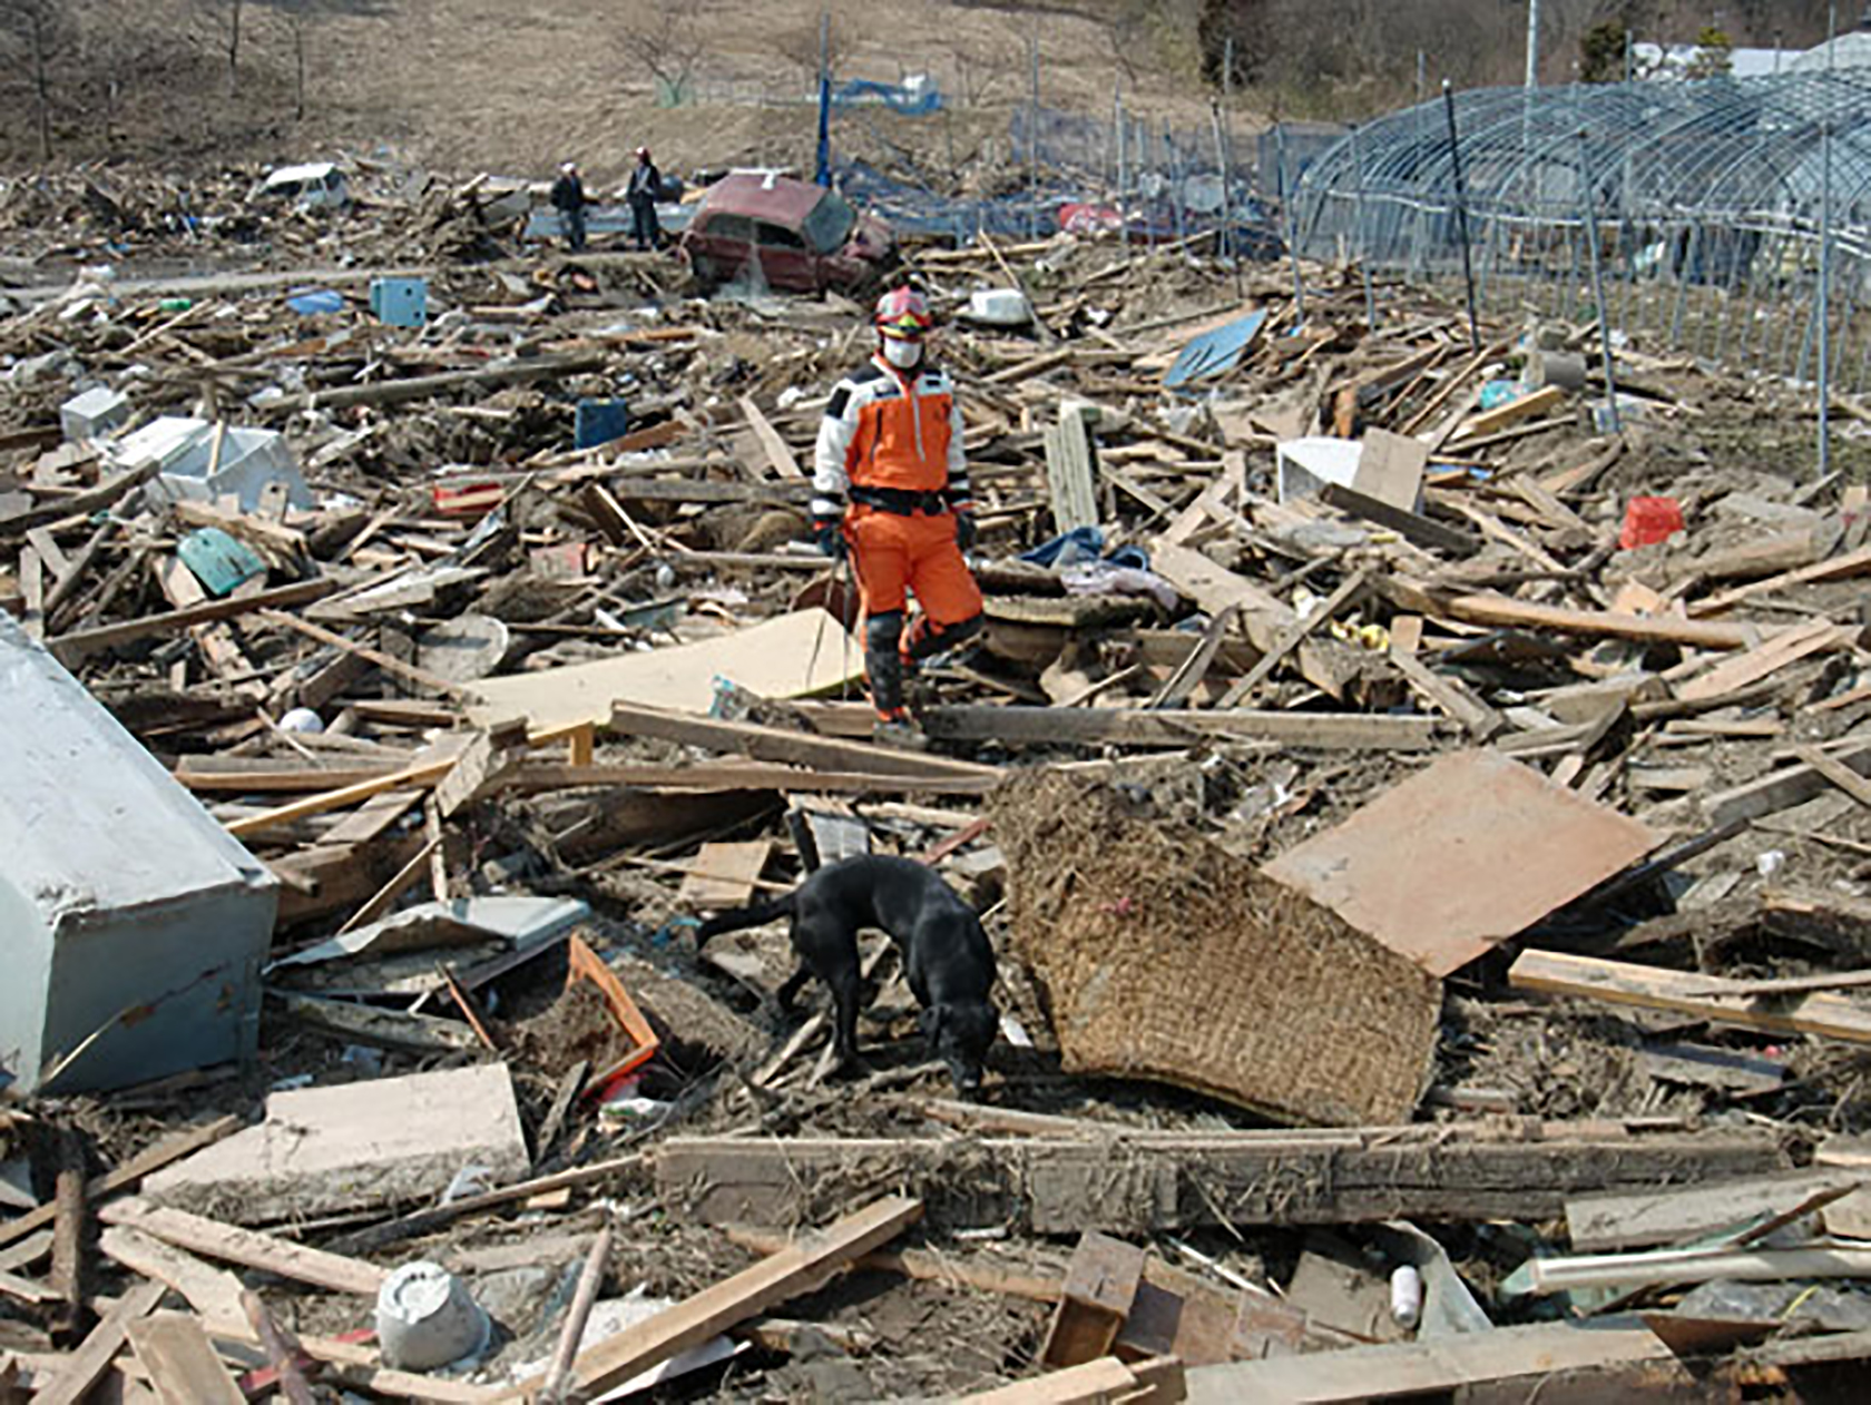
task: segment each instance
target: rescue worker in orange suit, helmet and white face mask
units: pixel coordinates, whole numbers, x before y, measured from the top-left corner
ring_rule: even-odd
[[[982,625],[962,559],[975,541],[962,412],[930,365],[928,303],[909,288],[877,299],[877,352],[831,393],[812,473],[819,550],[849,558],[864,602],[864,674],[877,737],[915,743],[904,677]],[[922,608],[906,630],[907,595]]]

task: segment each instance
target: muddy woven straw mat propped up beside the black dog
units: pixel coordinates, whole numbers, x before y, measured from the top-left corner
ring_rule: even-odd
[[[1068,1072],[1310,1123],[1409,1117],[1435,1048],[1433,977],[1104,786],[1018,778],[990,814]]]

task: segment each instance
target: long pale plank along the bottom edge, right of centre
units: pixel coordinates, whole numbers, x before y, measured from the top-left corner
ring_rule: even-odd
[[[1566,1371],[1661,1362],[1671,1356],[1663,1340],[1637,1317],[1602,1317],[1590,1323],[1501,1326],[1433,1341],[1199,1366],[1184,1379],[1190,1405],[1351,1405],[1394,1396],[1446,1396],[1510,1381],[1525,1381],[1525,1390],[1532,1392],[1542,1379]],[[1572,1394],[1562,1398],[1588,1399]]]

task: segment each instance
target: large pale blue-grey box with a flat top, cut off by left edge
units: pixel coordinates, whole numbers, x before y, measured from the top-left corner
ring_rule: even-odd
[[[273,876],[0,614],[0,1068],[123,1087],[249,1059]]]

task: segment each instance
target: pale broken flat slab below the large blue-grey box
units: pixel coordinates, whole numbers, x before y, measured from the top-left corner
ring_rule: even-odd
[[[144,1194],[238,1224],[341,1214],[447,1190],[464,1166],[498,1184],[526,1173],[505,1065],[296,1089],[266,1121],[144,1180]]]

